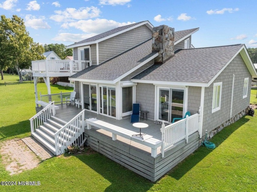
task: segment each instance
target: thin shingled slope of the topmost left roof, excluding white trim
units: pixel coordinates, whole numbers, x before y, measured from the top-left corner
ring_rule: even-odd
[[[111,34],[117,33],[117,32],[119,32],[119,31],[125,30],[125,29],[127,29],[127,28],[129,28],[129,27],[133,27],[133,26],[135,26],[135,25],[137,25],[137,24],[140,24],[140,23],[143,23],[143,22],[144,22],[144,21],[141,21],[141,22],[138,22],[138,23],[134,23],[134,24],[130,24],[130,25],[125,25],[125,26],[122,26],[122,27],[117,27],[117,28],[112,29],[112,30],[110,30],[110,31],[103,32],[103,33],[101,33],[101,34],[98,34],[98,35],[95,35],[95,36],[93,36],[93,37],[84,39],[84,40],[82,40],[82,41],[80,41],[80,42],[73,43],[73,44],[71,44],[71,45],[76,45],[76,44],[80,44],[80,43],[87,43],[87,42],[91,42],[91,41],[96,41],[96,40],[98,40],[98,39],[107,37],[107,36],[109,36],[109,35],[111,35]],[[69,45],[69,46],[70,46],[70,45]]]

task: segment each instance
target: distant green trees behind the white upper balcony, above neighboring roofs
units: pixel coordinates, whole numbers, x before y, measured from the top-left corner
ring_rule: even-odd
[[[51,44],[45,44],[44,45],[45,52],[47,51],[54,51],[61,59],[65,59],[66,56],[72,55],[72,49],[66,49],[66,46],[64,44],[58,44],[58,43],[51,43]]]

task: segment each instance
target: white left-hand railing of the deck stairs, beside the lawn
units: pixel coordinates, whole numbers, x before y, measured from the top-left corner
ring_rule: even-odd
[[[54,115],[55,109],[53,101],[52,103],[49,103],[47,107],[43,108],[41,111],[39,111],[32,118],[29,119],[31,132],[35,132],[35,130],[38,129],[40,125],[43,125],[43,123],[46,122],[47,119],[50,119],[50,117]]]

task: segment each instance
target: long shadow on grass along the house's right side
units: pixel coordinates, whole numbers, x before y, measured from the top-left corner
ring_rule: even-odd
[[[209,141],[216,145],[216,148],[219,147],[234,131],[244,125],[248,118],[242,117],[235,123],[225,127],[222,131],[218,132],[213,138]],[[215,148],[215,149],[216,149]],[[167,174],[174,179],[179,180],[183,177],[190,169],[192,169],[196,164],[203,160],[210,152],[215,149],[207,149],[206,147],[199,147],[193,154],[189,155],[186,159],[180,162],[176,167],[174,167]]]

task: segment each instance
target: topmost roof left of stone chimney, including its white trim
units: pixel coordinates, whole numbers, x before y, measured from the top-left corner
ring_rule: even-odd
[[[109,30],[109,31],[103,32],[101,34],[95,35],[93,37],[84,39],[84,40],[82,40],[80,42],[75,42],[75,43],[73,43],[71,45],[68,45],[67,48],[72,48],[72,47],[78,47],[78,46],[98,43],[98,42],[101,42],[101,41],[103,41],[105,39],[111,38],[111,37],[113,37],[115,35],[124,33],[125,31],[129,31],[129,30],[131,30],[133,28],[139,27],[139,26],[144,25],[144,24],[146,24],[147,27],[149,27],[151,30],[154,27],[149,21],[141,21],[141,22],[138,22],[138,23],[134,23],[134,24],[130,24],[130,25],[125,25],[125,26],[122,26],[122,27],[117,27],[117,28],[114,28],[112,30]]]

